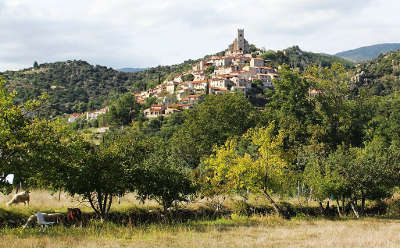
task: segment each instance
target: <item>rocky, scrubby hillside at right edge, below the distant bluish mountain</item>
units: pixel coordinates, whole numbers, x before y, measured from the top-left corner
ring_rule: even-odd
[[[358,65],[353,80],[372,95],[388,95],[400,90],[400,50]]]

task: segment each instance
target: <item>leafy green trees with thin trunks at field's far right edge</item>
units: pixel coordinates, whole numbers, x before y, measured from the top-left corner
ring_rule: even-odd
[[[383,138],[375,137],[364,148],[339,146],[323,156],[309,151],[304,179],[320,202],[335,199],[339,215],[351,208],[359,217],[366,200],[382,200],[393,194],[400,171],[397,150],[396,144],[387,146]]]

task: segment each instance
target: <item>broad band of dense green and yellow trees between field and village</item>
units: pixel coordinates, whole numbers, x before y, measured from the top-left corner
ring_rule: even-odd
[[[366,65],[386,68],[391,60],[372,84],[396,73],[396,56]],[[336,63],[282,65],[279,74],[264,92],[263,110],[242,94],[209,95],[193,109],[150,121],[125,94],[103,116],[110,131],[97,142],[43,118],[43,102],[14,104],[2,82],[0,182],[7,186],[4,177],[13,173],[32,186],[78,194],[102,219],[113,198],[127,192],[164,211],[195,194],[246,200],[252,192],[280,215],[276,194],[314,199],[323,214],[334,201],[339,215],[356,216],[366,202],[392,196],[400,186],[397,89],[373,94]]]

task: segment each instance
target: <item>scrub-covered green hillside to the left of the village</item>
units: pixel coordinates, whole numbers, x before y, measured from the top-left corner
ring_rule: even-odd
[[[195,61],[158,66],[135,73],[119,72],[85,61],[46,63],[36,68],[0,73],[8,88],[17,90],[17,103],[49,95],[50,114],[84,112],[99,109],[120,94],[140,92],[158,85],[170,74],[191,68]]]

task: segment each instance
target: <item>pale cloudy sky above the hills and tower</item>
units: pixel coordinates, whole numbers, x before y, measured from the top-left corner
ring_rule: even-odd
[[[0,0],[0,71],[68,59],[121,67],[258,47],[336,53],[400,42],[398,0]]]

